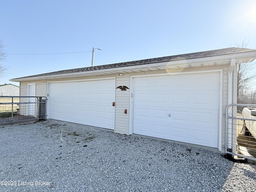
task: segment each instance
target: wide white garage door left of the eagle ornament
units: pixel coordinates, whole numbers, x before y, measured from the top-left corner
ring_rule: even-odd
[[[49,118],[114,129],[115,80],[48,84]]]

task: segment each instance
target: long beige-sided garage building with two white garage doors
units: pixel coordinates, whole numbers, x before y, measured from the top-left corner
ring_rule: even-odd
[[[255,58],[254,49],[225,48],[12,81],[20,82],[21,96],[48,98],[47,118],[224,152],[225,109],[236,103],[237,64]]]

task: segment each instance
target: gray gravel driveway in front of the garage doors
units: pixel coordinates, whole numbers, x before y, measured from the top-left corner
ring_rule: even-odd
[[[256,165],[191,146],[46,120],[0,126],[0,181],[5,181],[1,192],[255,192]]]

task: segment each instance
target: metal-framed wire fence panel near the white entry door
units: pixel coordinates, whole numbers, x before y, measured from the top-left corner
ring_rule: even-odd
[[[46,118],[46,97],[0,96],[0,124]]]

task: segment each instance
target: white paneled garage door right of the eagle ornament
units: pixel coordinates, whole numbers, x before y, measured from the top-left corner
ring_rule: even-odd
[[[220,74],[134,78],[133,132],[218,147]]]

